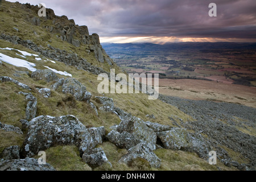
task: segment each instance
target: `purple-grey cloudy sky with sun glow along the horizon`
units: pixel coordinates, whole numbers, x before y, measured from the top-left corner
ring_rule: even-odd
[[[88,26],[101,42],[256,42],[256,0],[18,1],[45,3],[56,15]],[[216,17],[208,15],[212,2]]]

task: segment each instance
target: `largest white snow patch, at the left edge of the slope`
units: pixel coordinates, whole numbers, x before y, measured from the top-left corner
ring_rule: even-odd
[[[27,68],[32,72],[36,71],[36,68],[34,68],[36,66],[36,64],[30,63],[30,62],[28,62],[26,60],[23,60],[23,59],[18,59],[18,58],[15,58],[15,57],[6,56],[3,53],[0,53],[0,60],[4,61],[5,63],[9,63],[11,65],[14,65],[16,67]]]

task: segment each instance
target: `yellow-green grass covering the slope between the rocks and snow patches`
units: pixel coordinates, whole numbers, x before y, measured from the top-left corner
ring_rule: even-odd
[[[122,70],[116,65],[109,65],[106,63],[100,63],[96,60],[93,53],[87,53],[85,49],[88,45],[81,44],[80,47],[75,47],[72,44],[62,41],[56,37],[56,34],[49,33],[45,26],[52,25],[52,20],[40,18],[40,26],[34,26],[27,22],[26,17],[36,16],[34,11],[28,11],[28,9],[21,8],[19,3],[10,3],[2,1],[0,4],[1,13],[1,26],[0,34],[15,35],[23,40],[31,40],[38,46],[42,46],[47,49],[47,45],[65,50],[67,52],[76,53],[78,56],[88,60],[89,63],[97,65],[97,67],[103,68],[105,71],[110,72],[110,68],[115,69],[115,73],[122,72]],[[18,28],[19,31],[16,31]],[[19,44],[13,44],[5,40],[0,39],[0,48],[15,48],[29,53],[38,54],[31,49]],[[15,50],[0,49],[0,53],[5,55],[22,59]],[[52,63],[46,60],[47,57],[39,55],[42,60],[35,60],[34,56],[27,56],[25,60],[35,63],[36,69],[46,69],[44,66],[56,69],[58,71],[65,71],[72,74],[73,78],[79,80],[86,89],[92,93],[92,99],[94,105],[99,108],[101,105],[96,102],[94,96],[103,96],[97,92],[97,85],[101,82],[97,80],[97,75],[93,73],[79,70],[72,65],[65,65],[59,61]],[[20,72],[23,71],[23,72]],[[36,88],[49,88],[53,82],[36,81],[26,74],[27,68],[15,67],[2,61],[0,65],[0,76],[9,76],[26,84],[32,88],[31,93],[37,98],[37,113],[39,115],[52,115],[61,116],[66,114],[75,115],[86,127],[91,126],[105,126],[106,133],[109,133],[110,126],[117,125],[120,119],[113,113],[108,113],[98,109],[98,115],[89,106],[88,103],[83,101],[77,101],[70,94],[63,94],[57,92],[58,90],[51,90],[51,97],[44,98],[39,94]],[[17,74],[19,76],[17,76]],[[63,75],[57,75],[61,77],[67,77]],[[18,92],[27,92],[22,88],[19,88],[12,82],[0,82],[0,121],[8,125],[14,125],[22,128],[20,119],[24,119],[26,100],[23,95]],[[160,100],[148,100],[147,94],[105,94],[106,97],[112,97],[115,106],[143,119],[144,121],[152,121],[165,125],[173,125],[168,117],[176,116],[175,121],[179,123],[192,121],[193,118],[179,110],[177,107],[170,104],[166,104]],[[155,119],[147,118],[147,114],[154,114]],[[22,147],[23,140],[27,131],[23,131],[23,135],[13,132],[7,132],[0,130],[0,152],[6,147],[17,144]],[[113,168],[109,166],[101,166],[95,170],[217,170],[221,169],[235,169],[224,166],[221,162],[217,162],[217,166],[211,166],[204,159],[199,158],[197,154],[192,152],[174,151],[159,148],[155,150],[155,154],[162,160],[160,168],[151,168],[144,160],[138,160],[131,166],[118,163],[118,160],[123,154],[126,154],[125,149],[120,149],[110,142],[104,142],[100,146],[105,151],[105,154],[109,161],[112,163]],[[92,170],[86,163],[82,162],[79,156],[79,150],[76,146],[55,146],[46,150],[47,163],[51,164],[57,170]],[[35,156],[38,158],[38,156]]]

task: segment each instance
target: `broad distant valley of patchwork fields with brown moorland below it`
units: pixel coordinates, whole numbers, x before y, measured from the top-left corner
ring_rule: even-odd
[[[160,73],[162,94],[256,107],[255,44],[136,44],[136,48],[109,44],[104,48],[118,57],[114,60],[128,73]]]

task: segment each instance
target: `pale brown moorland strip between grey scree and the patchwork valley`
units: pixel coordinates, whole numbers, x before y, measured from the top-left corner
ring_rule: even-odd
[[[191,100],[212,100],[239,103],[256,108],[256,88],[222,82],[160,79],[159,93]]]

